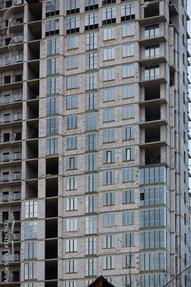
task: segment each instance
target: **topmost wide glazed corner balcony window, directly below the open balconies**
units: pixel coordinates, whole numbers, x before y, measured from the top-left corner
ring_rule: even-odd
[[[167,168],[166,166],[155,166],[150,168],[139,169],[139,184],[149,183],[167,183]]]

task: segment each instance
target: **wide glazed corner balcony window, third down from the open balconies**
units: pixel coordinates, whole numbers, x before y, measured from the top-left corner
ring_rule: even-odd
[[[153,226],[167,226],[167,209],[155,208],[145,209],[139,211],[139,226],[153,227]]]

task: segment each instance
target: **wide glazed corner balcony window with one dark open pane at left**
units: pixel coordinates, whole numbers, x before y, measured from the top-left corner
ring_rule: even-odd
[[[140,206],[166,204],[167,205],[167,188],[165,186],[157,186],[150,188],[140,188]]]

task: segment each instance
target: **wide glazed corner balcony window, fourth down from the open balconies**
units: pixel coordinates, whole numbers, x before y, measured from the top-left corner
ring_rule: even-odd
[[[168,248],[167,230],[139,232],[139,249]]]

